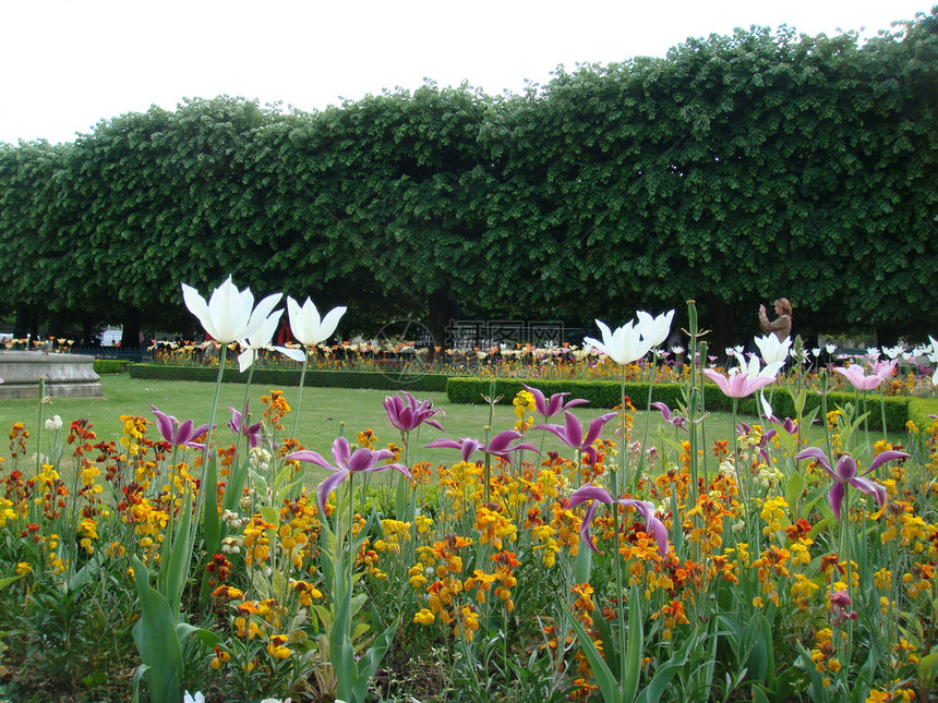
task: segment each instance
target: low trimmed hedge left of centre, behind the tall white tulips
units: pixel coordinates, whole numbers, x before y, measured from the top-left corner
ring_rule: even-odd
[[[215,383],[218,369],[208,366],[164,366],[156,364],[131,364],[128,366],[131,378],[153,378],[160,380],[195,380]],[[244,384],[248,374],[236,367],[225,369],[221,383]],[[273,388],[300,385],[300,372],[284,368],[258,368],[252,383]],[[378,374],[366,371],[308,371],[303,383],[313,388],[363,388],[369,390],[406,390],[408,392],[445,392],[446,376],[425,374],[404,379],[393,374]]]

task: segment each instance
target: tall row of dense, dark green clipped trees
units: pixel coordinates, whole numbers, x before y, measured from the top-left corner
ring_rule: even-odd
[[[859,46],[782,28],[426,84],[321,112],[190,100],[74,143],[0,144],[17,325],[182,329],[181,281],[348,304],[346,332],[458,316],[592,328],[696,299],[714,343],[938,329],[938,8]]]

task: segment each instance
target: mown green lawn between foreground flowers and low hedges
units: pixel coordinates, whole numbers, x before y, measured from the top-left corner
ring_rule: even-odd
[[[101,377],[101,386],[104,387],[103,398],[51,399],[44,408],[44,417],[51,417],[53,414],[60,415],[65,424],[63,433],[67,432],[69,423],[73,420],[87,417],[94,424],[99,438],[115,439],[121,429],[120,415],[142,415],[147,420],[153,420],[151,404],[180,420],[191,417],[196,424],[207,422],[215,388],[214,384],[207,383],[133,379],[128,374],[105,375]],[[284,397],[291,407],[296,405],[297,390],[296,387],[285,389]],[[267,395],[270,389],[266,387],[252,387],[251,413],[255,417],[260,416],[264,409],[261,403],[261,396]],[[388,423],[382,405],[386,395],[388,395],[386,391],[380,390],[305,388],[297,433],[300,441],[306,448],[318,451],[330,459],[329,448],[339,434],[340,423],[345,423],[344,434],[352,441],[358,433],[365,428],[373,429],[382,444],[399,441],[399,434]],[[423,398],[423,395],[418,393],[418,400]],[[227,408],[229,405],[240,407],[243,399],[244,386],[223,385],[216,415],[216,424],[219,426],[217,432],[220,433],[219,436],[223,439],[227,440],[230,437],[226,423],[231,415]],[[421,429],[417,441],[413,443],[414,447],[422,447],[428,441],[441,437],[482,438],[483,427],[489,424],[488,405],[452,404],[442,393],[433,397],[432,400],[434,405],[441,408],[445,413],[445,417],[441,419],[445,433],[432,427],[424,427]],[[604,412],[609,412],[609,410],[590,409],[589,405],[575,409],[575,414],[584,424]],[[35,437],[37,413],[38,402],[36,400],[3,400],[0,402],[0,428],[5,433],[14,422],[23,422]],[[741,417],[741,420],[753,422],[754,419]],[[492,423],[493,433],[510,428],[514,422],[515,414],[510,405],[496,407]],[[552,422],[563,423],[563,417],[554,419]],[[634,431],[636,438],[641,437],[645,422],[646,413],[637,412]],[[652,411],[651,422],[649,439],[657,443],[658,426],[662,424],[660,413]],[[292,423],[293,415],[290,413],[284,420],[287,433],[291,429]],[[705,423],[707,443],[712,445],[714,439],[729,439],[731,425],[732,416],[727,413],[713,413],[708,416]],[[665,425],[664,428],[668,437],[675,437],[675,433],[670,426]],[[156,433],[155,427],[151,431]],[[611,437],[613,431],[614,423],[608,424],[604,436]],[[563,449],[553,435],[540,431],[531,432],[530,441],[540,446],[542,435],[546,438],[543,445],[544,449]],[[684,436],[682,433],[681,438]],[[813,428],[811,436],[819,439],[821,436],[820,428]],[[902,441],[900,438],[895,440]],[[31,447],[31,451],[34,449],[35,447]],[[3,447],[2,453],[7,454],[7,447]],[[709,451],[707,453],[709,454]],[[454,462],[457,458],[458,452],[452,449],[419,449],[412,452],[410,461]],[[310,478],[315,481],[324,472],[314,466],[313,469],[315,471],[312,472]]]

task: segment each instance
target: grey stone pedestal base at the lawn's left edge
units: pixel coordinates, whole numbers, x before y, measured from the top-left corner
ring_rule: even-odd
[[[0,351],[0,398],[38,398],[39,378],[46,395],[91,398],[104,395],[94,356],[33,351]]]

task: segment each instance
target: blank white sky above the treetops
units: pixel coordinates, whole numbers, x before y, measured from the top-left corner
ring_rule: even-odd
[[[491,95],[558,64],[664,56],[753,24],[863,36],[936,0],[0,0],[0,142],[220,94],[304,110],[468,81]]]

